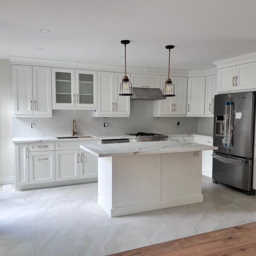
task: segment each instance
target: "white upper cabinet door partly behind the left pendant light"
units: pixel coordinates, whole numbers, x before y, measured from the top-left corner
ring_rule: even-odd
[[[120,84],[122,82],[124,74],[123,73],[115,73],[115,116],[119,115],[130,115],[130,96],[119,96],[120,93]],[[130,77],[130,74],[127,74]]]

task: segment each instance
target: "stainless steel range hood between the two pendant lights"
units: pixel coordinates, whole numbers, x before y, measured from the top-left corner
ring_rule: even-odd
[[[166,99],[160,89],[156,88],[132,88],[133,96],[131,99],[158,100]]]

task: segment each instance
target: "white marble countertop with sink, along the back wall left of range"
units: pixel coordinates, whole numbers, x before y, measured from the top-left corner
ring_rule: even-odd
[[[33,143],[33,142],[55,142],[55,141],[83,141],[83,140],[115,140],[115,139],[135,139],[135,136],[120,134],[120,135],[76,135],[79,136],[93,136],[93,138],[69,138],[57,139],[55,136],[50,137],[16,137],[12,138],[13,143]],[[58,136],[65,137],[65,136]],[[72,137],[67,135],[67,137]]]

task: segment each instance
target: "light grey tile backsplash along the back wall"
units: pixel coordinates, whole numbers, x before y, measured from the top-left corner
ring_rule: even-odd
[[[93,111],[53,110],[52,117],[13,117],[13,137],[70,135],[72,120],[76,119],[78,133],[84,135],[115,135],[138,131],[178,133],[198,131],[195,117],[153,117],[153,102],[131,100],[130,117],[93,117]],[[181,121],[181,128],[177,122]],[[103,127],[107,122],[108,127]],[[30,128],[35,123],[35,128]]]

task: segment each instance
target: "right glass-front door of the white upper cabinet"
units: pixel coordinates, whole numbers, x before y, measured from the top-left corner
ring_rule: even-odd
[[[76,70],[76,107],[97,107],[97,71]]]

